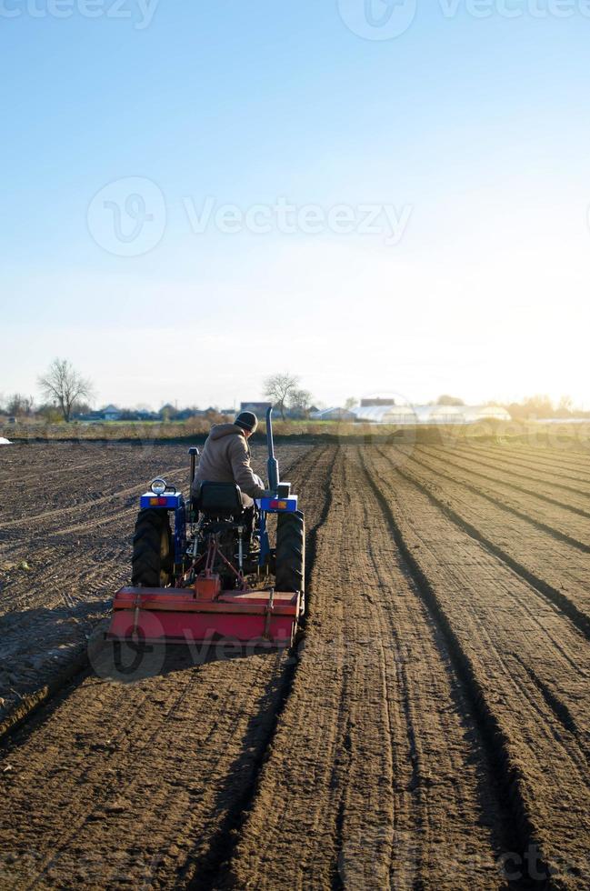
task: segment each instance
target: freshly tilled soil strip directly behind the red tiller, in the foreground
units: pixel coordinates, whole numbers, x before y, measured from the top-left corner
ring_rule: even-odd
[[[297,473],[312,521],[329,455],[307,452]],[[183,656],[128,686],[83,678],[45,708],[3,753],[6,886],[172,887],[206,869],[255,780],[287,662]]]

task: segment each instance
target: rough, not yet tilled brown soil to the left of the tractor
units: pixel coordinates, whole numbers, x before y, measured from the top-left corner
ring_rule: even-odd
[[[307,446],[281,450],[285,473]],[[260,473],[265,449],[255,446]],[[139,496],[186,486],[178,445],[5,446],[0,465],[0,720],[84,654],[128,583]]]

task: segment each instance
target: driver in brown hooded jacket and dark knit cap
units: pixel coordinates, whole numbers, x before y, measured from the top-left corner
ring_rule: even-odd
[[[248,439],[255,432],[258,419],[254,412],[240,412],[233,424],[215,424],[211,428],[195,473],[192,495],[198,498],[201,483],[235,483],[242,493],[242,504],[250,528],[254,520],[253,498],[265,495],[265,484],[250,466]]]

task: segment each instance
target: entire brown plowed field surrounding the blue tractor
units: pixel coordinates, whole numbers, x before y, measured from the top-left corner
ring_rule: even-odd
[[[3,449],[0,696],[23,722],[0,886],[590,887],[590,456],[279,458],[306,516],[301,641],[124,676],[93,628],[137,496],[182,485],[185,450]]]

